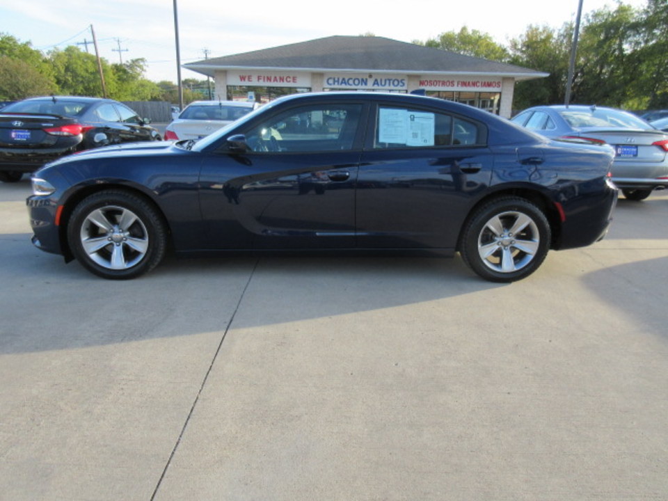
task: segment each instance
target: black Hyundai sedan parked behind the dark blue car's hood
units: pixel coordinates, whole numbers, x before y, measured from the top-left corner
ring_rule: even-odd
[[[159,141],[125,104],[96,97],[50,96],[0,110],[0,180],[16,182],[63,155],[132,141]]]

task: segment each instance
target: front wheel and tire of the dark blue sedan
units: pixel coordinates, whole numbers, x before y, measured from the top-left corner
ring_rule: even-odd
[[[72,254],[102,278],[135,278],[165,255],[167,230],[149,202],[120,190],[100,191],[81,200],[67,223]]]

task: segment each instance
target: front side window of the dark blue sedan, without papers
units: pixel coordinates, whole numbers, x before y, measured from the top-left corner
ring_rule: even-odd
[[[362,104],[326,104],[294,108],[246,132],[254,152],[352,150]]]

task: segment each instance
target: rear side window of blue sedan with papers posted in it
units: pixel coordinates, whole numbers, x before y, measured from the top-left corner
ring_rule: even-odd
[[[379,106],[374,148],[439,148],[479,145],[484,127],[458,116],[420,109]]]

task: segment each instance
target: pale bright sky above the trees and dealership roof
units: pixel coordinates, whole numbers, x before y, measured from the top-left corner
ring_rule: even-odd
[[[634,7],[646,0],[625,0]],[[616,0],[584,0],[583,15]],[[304,42],[331,35],[374,35],[404,42],[427,40],[461,26],[477,29],[506,44],[530,24],[559,28],[575,20],[578,0],[291,0],[178,1],[181,63]],[[176,81],[173,0],[2,0],[0,32],[35,49],[92,40],[111,63],[148,61],[146,77]],[[120,45],[119,42],[120,41]],[[85,49],[85,45],[80,46]],[[114,51],[113,49],[122,49]],[[126,51],[127,49],[127,51]],[[93,53],[93,46],[88,50]],[[203,78],[182,70],[182,78]]]

